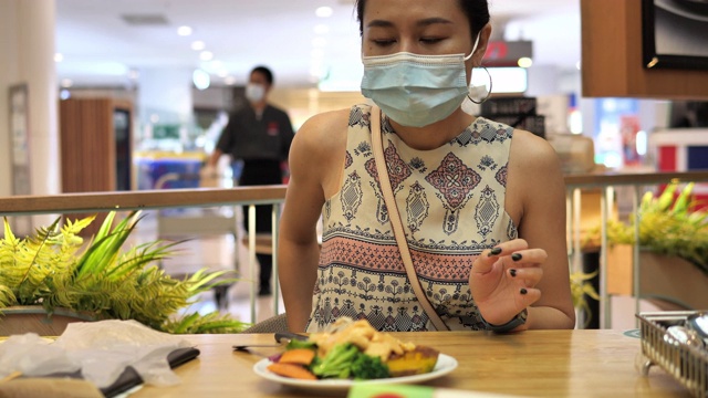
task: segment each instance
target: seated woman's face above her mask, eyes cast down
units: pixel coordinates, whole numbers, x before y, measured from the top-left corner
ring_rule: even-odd
[[[459,0],[367,0],[364,56],[412,52],[424,55],[472,51],[469,21]]]

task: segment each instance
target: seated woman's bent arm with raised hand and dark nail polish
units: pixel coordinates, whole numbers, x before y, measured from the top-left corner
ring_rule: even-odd
[[[514,132],[506,207],[520,239],[475,261],[470,287],[481,315],[502,325],[528,307],[518,329],[574,327],[563,175],[555,150],[528,132]]]

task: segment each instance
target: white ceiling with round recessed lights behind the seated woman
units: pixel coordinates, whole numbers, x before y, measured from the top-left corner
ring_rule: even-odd
[[[431,0],[433,1],[433,0]],[[358,25],[353,0],[56,0],[60,80],[80,85],[128,85],[131,71],[202,67],[215,84],[225,75],[243,84],[266,64],[279,86],[317,78],[361,78]],[[333,9],[330,18],[315,9]],[[574,67],[580,60],[580,0],[490,0],[492,24],[507,40],[533,40],[534,64]],[[121,15],[162,15],[159,25],[131,25]],[[316,33],[323,24],[327,32]],[[189,25],[190,36],[177,35]],[[506,28],[506,29],[504,29]],[[315,39],[324,43],[314,43]],[[215,62],[202,62],[190,43],[201,40]],[[313,57],[313,49],[321,57]],[[315,54],[316,55],[316,54]],[[221,76],[219,76],[219,73]],[[135,74],[134,74],[135,76]],[[134,82],[133,82],[134,83]]]

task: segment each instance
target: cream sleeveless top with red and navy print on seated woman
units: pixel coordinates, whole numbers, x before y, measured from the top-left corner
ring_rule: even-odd
[[[342,316],[385,332],[435,331],[410,286],[378,185],[371,106],[350,113],[340,191],[322,209],[322,250],[306,331]],[[513,129],[477,118],[437,149],[408,147],[382,118],[384,156],[424,292],[450,329],[483,329],[470,294],[479,253],[517,238],[504,210]]]

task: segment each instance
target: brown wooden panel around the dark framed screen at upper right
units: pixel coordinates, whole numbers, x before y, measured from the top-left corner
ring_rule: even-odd
[[[581,0],[581,21],[583,96],[708,98],[708,71],[644,67],[642,0]]]

